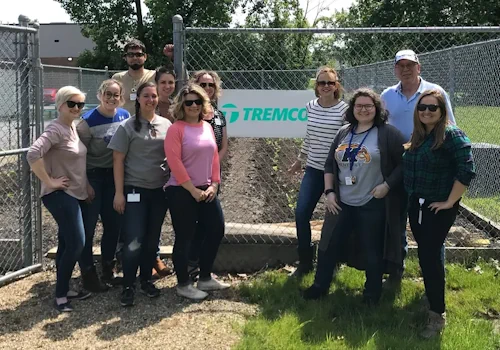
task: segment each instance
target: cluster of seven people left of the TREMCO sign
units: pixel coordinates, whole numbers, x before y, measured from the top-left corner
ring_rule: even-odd
[[[171,45],[164,52],[171,56]],[[127,43],[123,57],[129,69],[101,83],[99,105],[83,116],[85,94],[73,86],[58,90],[58,117],[27,154],[41,180],[42,201],[58,225],[55,307],[61,312],[73,310],[71,300],[118,284],[121,305],[134,305],[138,269],[140,292],[159,296],[153,274],[171,273],[159,254],[168,210],[177,293],[201,300],[207,291],[230,286],[212,274],[224,236],[217,194],[228,148],[226,121],[217,109],[220,78],[196,72],[172,98],[175,73],[168,67],[145,69],[142,42]],[[92,249],[99,217],[100,277]],[[116,271],[117,255],[123,278]],[[70,290],[77,262],[79,291]]]

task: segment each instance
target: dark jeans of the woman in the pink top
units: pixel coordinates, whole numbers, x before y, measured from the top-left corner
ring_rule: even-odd
[[[199,188],[205,190],[206,186]],[[190,282],[188,258],[198,227],[204,233],[199,255],[200,279],[209,279],[225,230],[219,198],[215,197],[212,202],[196,202],[182,186],[168,186],[167,197],[172,203],[170,215],[175,232],[172,260],[178,284],[185,286]]]

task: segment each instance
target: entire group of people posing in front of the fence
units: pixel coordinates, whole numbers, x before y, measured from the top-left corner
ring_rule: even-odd
[[[164,52],[171,57],[172,46]],[[217,195],[228,149],[226,121],[217,109],[220,78],[212,71],[196,72],[173,98],[175,73],[167,67],[145,69],[140,41],[125,45],[124,59],[129,69],[101,84],[99,106],[81,118],[84,93],[71,86],[59,89],[58,117],[28,151],[42,183],[42,201],[59,228],[55,307],[63,312],[73,310],[72,299],[116,284],[123,286],[121,304],[133,305],[138,268],[140,291],[157,297],[153,275],[171,273],[159,256],[167,211],[175,235],[177,293],[201,300],[207,291],[229,287],[211,273],[224,235]],[[306,106],[306,137],[290,168],[298,172],[305,163],[296,208],[299,265],[293,276],[314,268],[309,222],[324,194],[327,212],[314,284],[303,296],[325,296],[345,261],[366,271],[363,301],[377,304],[384,273],[390,274],[388,283],[401,281],[409,217],[429,302],[423,335],[430,337],[445,324],[444,241],[474,164],[448,95],[420,77],[417,55],[398,52],[394,70],[397,85],[380,96],[358,89],[349,101],[341,100],[337,72],[318,70],[317,98]],[[92,255],[99,216],[101,277]],[[116,274],[117,251],[123,279]],[[76,262],[81,291],[70,290]]]

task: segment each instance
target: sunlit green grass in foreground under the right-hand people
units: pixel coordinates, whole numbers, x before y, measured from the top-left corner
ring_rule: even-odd
[[[361,304],[363,272],[341,269],[326,299],[307,302],[298,290],[312,283],[312,274],[299,284],[284,273],[265,273],[241,287],[242,295],[261,311],[245,324],[236,348],[500,349],[500,334],[493,331],[500,328],[500,277],[492,263],[478,266],[480,271],[447,265],[448,325],[433,340],[418,337],[426,312],[415,260],[408,261],[401,291],[384,294],[373,309]]]

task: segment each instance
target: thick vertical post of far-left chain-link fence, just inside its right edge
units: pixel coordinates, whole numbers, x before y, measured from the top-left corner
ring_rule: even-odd
[[[29,18],[19,16],[19,25],[28,27]],[[20,71],[19,101],[21,106],[21,147],[27,148],[31,144],[30,139],[30,66],[29,66],[29,34],[19,35],[20,51],[18,67]],[[23,265],[33,265],[33,232],[31,212],[31,172],[26,159],[26,153],[21,157],[21,220],[23,230]]]

